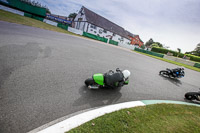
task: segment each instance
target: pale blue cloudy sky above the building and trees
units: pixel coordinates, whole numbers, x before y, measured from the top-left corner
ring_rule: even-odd
[[[150,38],[182,53],[200,43],[200,0],[35,0],[51,13],[68,16],[82,6],[146,43]]]

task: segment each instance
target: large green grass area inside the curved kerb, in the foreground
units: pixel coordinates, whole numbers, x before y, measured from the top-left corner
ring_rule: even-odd
[[[197,106],[155,104],[123,109],[91,120],[69,133],[199,133]]]

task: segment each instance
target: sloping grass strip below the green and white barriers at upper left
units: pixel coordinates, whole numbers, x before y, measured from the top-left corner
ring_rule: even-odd
[[[11,22],[11,23],[27,25],[27,26],[32,26],[32,27],[37,27],[37,28],[46,29],[46,30],[51,30],[51,31],[56,31],[56,32],[61,32],[61,33],[66,33],[66,34],[71,34],[71,35],[76,35],[67,30],[61,29],[56,26],[52,26],[50,24],[41,22],[39,20],[20,16],[18,14],[10,13],[10,12],[3,11],[3,10],[0,10],[0,20]],[[79,35],[76,35],[76,36],[79,36]]]

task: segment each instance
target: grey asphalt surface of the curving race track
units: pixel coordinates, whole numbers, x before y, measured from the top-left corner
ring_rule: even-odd
[[[200,73],[172,80],[176,65],[110,44],[0,21],[0,132],[28,132],[71,113],[135,100],[184,101]],[[121,89],[88,90],[84,80],[116,68],[131,71]]]

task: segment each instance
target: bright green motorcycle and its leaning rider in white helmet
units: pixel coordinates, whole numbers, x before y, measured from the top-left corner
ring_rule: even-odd
[[[119,68],[116,69],[116,72],[110,70],[105,74],[96,73],[92,78],[85,80],[85,85],[89,89],[122,87],[128,85],[130,74],[129,70],[121,71]]]

